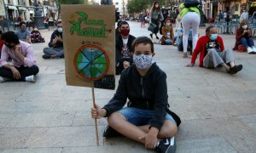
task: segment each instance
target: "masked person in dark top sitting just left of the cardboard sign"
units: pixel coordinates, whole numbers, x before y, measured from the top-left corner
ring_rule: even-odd
[[[57,30],[51,34],[48,46],[49,48],[44,48],[44,59],[64,58],[61,21],[57,22]]]

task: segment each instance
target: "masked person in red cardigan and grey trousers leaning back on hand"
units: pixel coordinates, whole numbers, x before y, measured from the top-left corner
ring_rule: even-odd
[[[195,65],[195,59],[198,54],[200,54],[199,66],[201,67],[212,69],[224,66],[225,71],[230,74],[235,74],[242,69],[242,65],[235,65],[232,49],[224,49],[223,40],[218,36],[216,26],[208,26],[206,36],[198,39],[191,63],[188,66]]]

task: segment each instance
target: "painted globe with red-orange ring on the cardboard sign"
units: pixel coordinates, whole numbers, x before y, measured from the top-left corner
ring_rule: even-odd
[[[109,59],[102,48],[96,45],[84,45],[75,54],[73,64],[79,77],[96,81],[108,72]]]

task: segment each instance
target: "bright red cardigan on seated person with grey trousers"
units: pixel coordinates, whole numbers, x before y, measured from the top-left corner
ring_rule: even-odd
[[[200,54],[199,57],[199,66],[203,65],[203,60],[205,58],[205,54],[206,54],[206,45],[207,42],[210,41],[210,38],[207,36],[202,36],[198,39],[194,52],[192,54],[192,58],[191,58],[191,63],[195,64],[195,59],[197,58],[197,55]],[[217,37],[217,41],[220,45],[221,51],[224,51],[224,43],[221,37]]]

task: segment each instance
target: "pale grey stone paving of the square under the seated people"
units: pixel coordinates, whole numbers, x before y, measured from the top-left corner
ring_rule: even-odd
[[[149,36],[139,23],[130,24],[131,34]],[[200,31],[205,34],[205,28]],[[51,31],[42,33],[49,41]],[[226,48],[233,47],[235,35],[223,38]],[[105,119],[98,122],[97,146],[90,88],[67,86],[64,59],[41,58],[46,45],[32,44],[40,68],[36,83],[0,83],[0,152],[154,152],[126,138],[102,138]],[[195,67],[185,67],[190,58],[177,48],[154,47],[154,60],[167,74],[169,104],[182,119],[177,153],[256,152],[256,55],[235,52],[244,68],[230,75],[200,68],[198,59]],[[106,104],[113,94],[96,89],[96,103]]]

